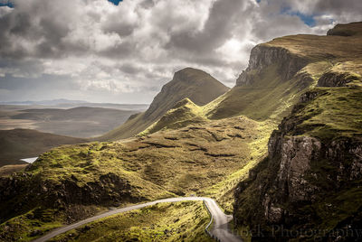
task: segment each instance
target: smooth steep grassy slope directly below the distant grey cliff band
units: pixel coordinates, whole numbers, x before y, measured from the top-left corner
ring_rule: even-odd
[[[292,83],[291,83],[292,82]],[[220,119],[228,116],[244,115],[254,120],[267,120],[279,108],[288,110],[299,92],[299,79],[281,81],[276,66],[262,72],[259,79],[251,87],[235,87],[224,95],[222,100],[215,100],[205,107],[210,110],[206,116]],[[281,115],[278,115],[281,118]]]

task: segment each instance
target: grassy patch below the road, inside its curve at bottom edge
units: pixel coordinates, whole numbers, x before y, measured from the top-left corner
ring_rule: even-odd
[[[213,241],[202,202],[163,203],[100,219],[51,241]]]

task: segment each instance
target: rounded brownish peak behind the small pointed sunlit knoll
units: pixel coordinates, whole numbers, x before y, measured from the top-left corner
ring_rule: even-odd
[[[157,94],[146,112],[131,116],[124,125],[99,139],[117,140],[137,135],[184,98],[189,98],[196,105],[204,106],[228,90],[229,88],[203,70],[192,68],[179,70]]]

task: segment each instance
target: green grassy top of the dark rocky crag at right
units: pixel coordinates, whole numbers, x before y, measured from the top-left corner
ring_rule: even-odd
[[[295,134],[320,140],[362,135],[362,88],[316,88],[313,91],[319,98],[295,115],[304,120]]]

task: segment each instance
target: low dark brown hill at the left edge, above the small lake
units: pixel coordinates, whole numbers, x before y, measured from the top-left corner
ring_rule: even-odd
[[[0,130],[0,166],[19,164],[61,144],[79,144],[85,139],[42,133],[32,129]]]

